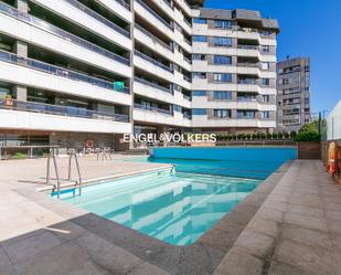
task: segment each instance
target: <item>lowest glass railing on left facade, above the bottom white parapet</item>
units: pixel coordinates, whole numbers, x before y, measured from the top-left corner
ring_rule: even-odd
[[[129,116],[107,112],[96,112],[72,106],[57,106],[43,103],[21,102],[15,99],[0,99],[0,109],[32,112],[56,116],[70,116],[99,120],[128,123]]]

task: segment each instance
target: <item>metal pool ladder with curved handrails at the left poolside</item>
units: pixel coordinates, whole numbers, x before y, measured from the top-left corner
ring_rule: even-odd
[[[67,180],[72,180],[72,159],[75,160],[76,163],[76,170],[77,170],[77,176],[78,176],[78,181],[76,181],[75,188],[78,187],[78,194],[82,194],[82,174],[81,174],[81,169],[79,169],[79,162],[78,162],[78,156],[76,154],[76,150],[70,149],[67,151],[68,154],[68,172],[67,172]],[[61,178],[60,178],[60,172],[58,172],[58,167],[57,167],[57,161],[56,161],[56,154],[55,149],[51,149],[49,157],[47,157],[47,166],[46,166],[46,184],[50,183],[51,177],[50,177],[50,167],[51,167],[51,159],[53,161],[53,167],[54,167],[54,172],[55,172],[55,178],[56,178],[56,184],[53,187],[53,192],[56,192],[57,198],[61,198]],[[56,190],[56,191],[55,191]]]

